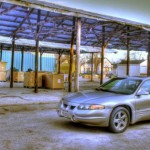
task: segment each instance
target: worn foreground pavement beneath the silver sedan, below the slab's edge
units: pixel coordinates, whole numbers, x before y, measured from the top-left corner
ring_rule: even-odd
[[[0,114],[0,150],[149,150],[150,123],[121,134],[59,118],[56,110],[4,111]]]

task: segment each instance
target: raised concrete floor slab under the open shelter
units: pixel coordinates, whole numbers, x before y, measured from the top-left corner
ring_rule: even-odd
[[[23,83],[14,83],[13,88],[9,88],[9,82],[0,82],[0,107],[22,106],[22,109],[27,109],[27,105],[33,108],[35,104],[50,104],[54,108],[61,98],[68,93],[68,83],[65,83],[65,88],[61,90],[51,90],[39,88],[38,93],[34,93],[34,88],[24,88]],[[80,90],[91,90],[99,86],[99,81],[90,82],[88,79],[80,82]],[[26,105],[26,106],[25,106]],[[47,107],[47,105],[46,105]],[[37,108],[37,106],[35,107]],[[21,107],[20,107],[21,109]]]

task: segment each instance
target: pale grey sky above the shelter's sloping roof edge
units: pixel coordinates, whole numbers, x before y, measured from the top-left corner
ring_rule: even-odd
[[[150,25],[150,0],[41,0]]]

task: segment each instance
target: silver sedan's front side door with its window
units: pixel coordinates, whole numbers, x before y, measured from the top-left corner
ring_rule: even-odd
[[[136,96],[136,120],[150,119],[150,80],[145,81],[139,91],[145,91],[145,94]],[[146,93],[147,92],[147,93]],[[149,94],[148,94],[149,93]]]

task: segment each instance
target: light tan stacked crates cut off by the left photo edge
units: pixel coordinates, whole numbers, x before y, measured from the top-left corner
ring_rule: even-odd
[[[6,62],[0,62],[0,81],[6,81]]]

